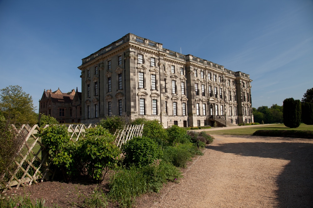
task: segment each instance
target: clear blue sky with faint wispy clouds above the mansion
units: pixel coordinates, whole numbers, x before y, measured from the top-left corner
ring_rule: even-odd
[[[81,91],[81,59],[127,33],[249,74],[254,108],[313,87],[312,0],[0,0],[0,89]]]

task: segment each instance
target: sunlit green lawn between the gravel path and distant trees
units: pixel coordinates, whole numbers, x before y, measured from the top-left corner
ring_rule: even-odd
[[[304,123],[301,123],[301,125],[298,128],[288,128],[285,127],[284,124],[275,124],[270,126],[264,126],[262,127],[262,124],[260,125],[251,125],[251,127],[247,128],[235,128],[235,129],[227,129],[227,130],[218,130],[218,131],[208,131],[208,134],[222,134],[222,135],[252,135],[256,130],[260,129],[290,129],[290,130],[310,130],[313,131],[313,125],[306,125]],[[204,129],[205,131],[205,129]]]

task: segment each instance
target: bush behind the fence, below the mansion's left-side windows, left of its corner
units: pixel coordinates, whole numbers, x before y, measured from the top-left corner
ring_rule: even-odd
[[[114,134],[116,130],[123,129],[125,125],[130,124],[129,118],[126,114],[121,116],[110,116],[102,119],[99,123],[100,126],[109,130],[111,134]]]

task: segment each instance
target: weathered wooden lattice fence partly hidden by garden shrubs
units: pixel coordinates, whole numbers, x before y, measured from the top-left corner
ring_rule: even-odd
[[[69,124],[68,132],[71,134],[70,140],[76,142],[78,139],[83,139],[85,131],[88,128],[95,127],[93,124]],[[41,145],[41,138],[39,137],[40,128],[38,125],[30,127],[29,125],[22,125],[17,129],[12,125],[13,129],[18,135],[26,135],[23,141],[23,145],[20,148],[19,154],[14,161],[16,169],[10,173],[10,179],[7,182],[3,192],[8,189],[12,189],[12,186],[29,186],[32,183],[42,182],[48,179],[48,176],[53,175],[53,172],[49,169],[48,163],[49,153],[44,152]],[[45,125],[44,128],[49,127]],[[116,145],[121,148],[123,143],[126,143],[133,137],[142,135],[143,125],[128,125],[123,130],[115,132]],[[44,155],[44,158],[41,156]]]

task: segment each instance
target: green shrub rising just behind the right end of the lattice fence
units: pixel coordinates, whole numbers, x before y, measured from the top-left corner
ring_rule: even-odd
[[[146,118],[137,118],[132,121],[133,125],[144,124],[142,136],[153,139],[158,145],[163,145],[164,139],[167,138],[167,132],[159,120],[148,120]]]

